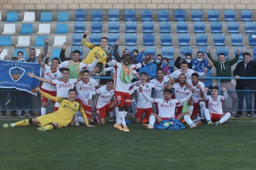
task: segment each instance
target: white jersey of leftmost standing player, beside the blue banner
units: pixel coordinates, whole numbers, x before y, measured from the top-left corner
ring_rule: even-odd
[[[56,70],[56,71],[52,71],[51,70],[51,66],[45,64],[45,76],[44,78],[45,79],[49,79],[49,80],[53,80],[53,79],[58,79],[58,78],[61,78],[62,75],[61,75],[61,71],[59,70]],[[46,89],[48,91],[56,91],[56,86],[53,86],[52,84],[49,84],[49,83],[45,83],[43,82],[41,88],[43,89]]]

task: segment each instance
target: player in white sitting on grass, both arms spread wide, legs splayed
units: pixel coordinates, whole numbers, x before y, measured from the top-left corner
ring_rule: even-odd
[[[189,100],[190,97],[192,96],[192,93],[194,92],[194,89],[192,89],[192,92],[190,92],[187,95],[187,97],[180,100],[171,99],[171,91],[169,89],[164,90],[163,92],[164,99],[150,98],[142,91],[142,87],[140,87],[139,89],[140,89],[140,92],[142,92],[143,97],[145,97],[145,99],[148,100],[148,102],[155,103],[158,105],[158,115],[156,115],[156,113],[151,113],[149,124],[143,124],[143,126],[146,129],[155,129],[154,128],[155,123],[158,124],[164,119],[170,119],[170,118],[175,118],[175,119],[178,119],[179,121],[182,121],[182,119],[184,119],[186,123],[189,124],[190,128],[195,128],[202,124],[201,121],[198,121],[197,123],[193,123],[193,121],[189,116],[189,113],[181,113],[175,116],[176,105],[181,102],[186,102],[187,100]]]

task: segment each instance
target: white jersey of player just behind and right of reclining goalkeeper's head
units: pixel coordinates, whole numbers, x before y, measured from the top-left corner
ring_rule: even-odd
[[[77,90],[77,99],[82,100],[83,104],[89,105],[89,93],[95,91],[95,86],[98,86],[98,83],[95,79],[90,78],[88,83],[85,83],[83,80],[80,80],[75,84],[75,89]]]

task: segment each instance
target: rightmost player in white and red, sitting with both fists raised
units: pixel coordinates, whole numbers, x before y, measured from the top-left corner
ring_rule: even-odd
[[[228,99],[228,92],[225,87],[222,88],[224,95],[218,95],[218,87],[211,88],[211,95],[207,95],[208,88],[203,91],[203,97],[208,102],[208,108],[205,108],[205,119],[208,125],[220,125],[230,118],[230,113],[223,113],[222,102]]]

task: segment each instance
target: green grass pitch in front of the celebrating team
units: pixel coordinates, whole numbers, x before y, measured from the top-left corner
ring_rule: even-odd
[[[0,119],[0,169],[255,169],[256,121],[237,120],[181,131],[132,123],[126,133],[111,123],[37,132]]]

